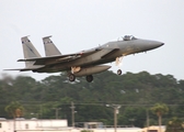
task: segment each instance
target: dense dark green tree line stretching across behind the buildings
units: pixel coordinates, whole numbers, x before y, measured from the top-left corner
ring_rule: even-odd
[[[161,113],[153,112],[156,105],[168,107],[165,114],[161,114],[162,124],[184,120],[184,80],[176,80],[172,75],[141,72],[117,76],[107,70],[94,75],[93,82],[87,82],[85,78],[69,82],[64,74],[41,81],[28,76],[7,76],[0,79],[0,117],[3,118],[12,118],[8,107],[18,101],[24,110],[21,116],[26,119],[55,119],[56,108],[60,108],[58,118],[68,119],[70,125],[71,102],[76,124],[99,121],[113,125],[114,111],[106,105],[122,106],[117,123],[124,127],[146,127],[148,116],[149,124],[158,125]]]

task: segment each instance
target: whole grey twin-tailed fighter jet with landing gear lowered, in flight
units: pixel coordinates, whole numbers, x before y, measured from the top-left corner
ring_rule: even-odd
[[[125,35],[117,41],[111,41],[97,47],[62,55],[49,38],[43,37],[45,57],[42,57],[27,36],[21,38],[23,45],[25,68],[9,69],[34,73],[58,73],[67,72],[70,81],[76,77],[85,76],[87,81],[93,80],[93,74],[111,68],[106,63],[115,62],[118,66],[124,56],[147,52],[162,46],[164,43],[158,41],[137,38],[133,35]],[[122,69],[117,70],[122,75]]]

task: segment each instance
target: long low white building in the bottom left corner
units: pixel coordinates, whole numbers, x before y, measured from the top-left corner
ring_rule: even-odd
[[[69,130],[67,120],[24,119],[7,120],[0,118],[0,132],[27,132],[47,130]]]

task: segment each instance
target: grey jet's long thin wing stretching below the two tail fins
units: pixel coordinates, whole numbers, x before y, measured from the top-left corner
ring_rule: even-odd
[[[99,52],[100,50],[83,51],[76,54],[68,55],[56,55],[56,56],[46,56],[46,57],[32,57],[25,59],[19,59],[18,62],[34,62],[34,65],[53,65],[57,63],[70,62],[83,56],[88,56]]]

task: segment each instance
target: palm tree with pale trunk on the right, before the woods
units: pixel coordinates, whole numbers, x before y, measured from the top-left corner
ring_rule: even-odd
[[[152,113],[157,114],[159,120],[159,129],[161,132],[161,125],[162,125],[162,116],[166,114],[169,112],[169,108],[164,103],[156,103],[152,108],[151,108]]]

